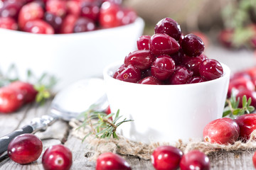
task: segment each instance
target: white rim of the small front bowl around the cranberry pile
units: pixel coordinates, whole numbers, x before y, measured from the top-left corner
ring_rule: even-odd
[[[221,81],[222,79],[226,79],[230,77],[230,68],[226,65],[223,64],[222,62],[220,62],[221,66],[223,67],[223,76],[219,77],[218,79],[213,79],[210,81],[203,81],[201,83],[196,83],[196,84],[163,84],[163,85],[156,85],[156,84],[137,84],[137,83],[131,83],[131,82],[127,82],[127,81],[121,81],[118,79],[114,79],[111,75],[110,72],[112,71],[112,69],[114,67],[118,67],[121,66],[123,62],[114,62],[112,64],[109,64],[107,67],[105,67],[105,69],[103,70],[103,75],[104,78],[108,77],[110,79],[112,79],[112,81],[116,81],[117,83],[122,83],[122,84],[130,84],[131,86],[152,86],[152,88],[154,87],[163,87],[163,88],[171,88],[171,87],[175,87],[175,88],[183,88],[183,87],[187,87],[187,86],[204,86],[206,84],[213,84],[215,83],[215,81]]]

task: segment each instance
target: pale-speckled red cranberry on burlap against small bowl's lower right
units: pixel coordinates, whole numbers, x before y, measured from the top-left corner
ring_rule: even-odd
[[[238,140],[239,126],[230,118],[219,118],[211,121],[203,129],[205,142],[218,144],[233,144]]]

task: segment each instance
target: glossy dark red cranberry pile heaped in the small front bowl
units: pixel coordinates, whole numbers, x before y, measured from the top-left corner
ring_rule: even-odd
[[[155,34],[142,35],[113,77],[139,84],[194,84],[218,79],[223,67],[203,55],[201,38],[188,34],[171,18],[156,24]]]

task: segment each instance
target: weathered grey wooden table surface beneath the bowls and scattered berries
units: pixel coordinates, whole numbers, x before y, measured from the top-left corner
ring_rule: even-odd
[[[226,50],[220,52],[220,49],[213,47],[208,49],[207,53],[210,54],[209,57],[215,57],[221,62],[225,62],[225,64],[229,64],[230,62],[233,71],[255,65],[255,61],[252,56],[250,56],[252,52],[242,52],[243,62],[234,62],[234,60],[240,60],[238,55],[241,54],[237,52],[230,53]],[[223,56],[223,54],[225,54],[225,56]],[[50,100],[47,101],[43,106],[38,106],[36,103],[33,103],[24,106],[16,113],[8,115],[0,114],[0,137],[21,128],[23,125],[29,123],[32,118],[48,114],[50,102]],[[87,150],[87,145],[71,135],[70,130],[68,123],[59,120],[45,132],[37,132],[36,135],[43,141],[43,152],[50,145],[63,143],[73,152],[73,166],[71,169],[95,169],[95,162],[90,161],[90,157],[85,157],[84,155]],[[252,155],[254,152],[255,150],[247,152],[216,152],[209,156],[211,169],[254,169],[252,165]],[[144,159],[137,157],[125,157],[125,159],[127,159],[127,162],[132,166],[132,169],[154,169],[151,163]],[[43,166],[41,164],[41,157],[36,162],[28,165],[16,164],[12,162],[11,159],[5,159],[0,162],[0,170],[2,169],[36,170],[43,169]]]

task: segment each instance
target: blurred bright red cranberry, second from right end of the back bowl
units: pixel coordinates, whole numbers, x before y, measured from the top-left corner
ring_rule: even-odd
[[[109,1],[105,1],[100,8],[99,22],[102,28],[112,28],[122,25],[124,11],[120,6]]]

